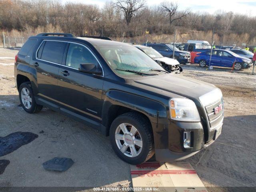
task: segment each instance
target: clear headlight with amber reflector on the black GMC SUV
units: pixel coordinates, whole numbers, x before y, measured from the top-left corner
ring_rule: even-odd
[[[200,121],[196,104],[185,98],[172,98],[169,103],[170,117],[178,121]]]

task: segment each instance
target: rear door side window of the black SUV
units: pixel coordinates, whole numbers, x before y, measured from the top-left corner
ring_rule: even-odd
[[[42,51],[41,59],[61,64],[66,44],[67,43],[65,42],[59,41],[46,41]]]

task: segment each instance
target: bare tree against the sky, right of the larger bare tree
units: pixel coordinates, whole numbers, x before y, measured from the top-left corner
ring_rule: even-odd
[[[183,12],[179,12],[178,4],[173,2],[162,2],[160,4],[160,10],[168,13],[170,26],[172,26],[174,21],[182,20],[190,14],[190,10],[188,8]]]

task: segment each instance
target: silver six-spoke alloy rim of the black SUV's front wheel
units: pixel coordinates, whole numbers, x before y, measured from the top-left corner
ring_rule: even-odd
[[[140,132],[129,123],[122,123],[116,128],[116,145],[128,157],[136,157],[142,151],[142,138]]]

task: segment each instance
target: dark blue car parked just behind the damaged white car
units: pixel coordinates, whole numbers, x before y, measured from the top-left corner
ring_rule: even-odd
[[[190,63],[190,52],[188,51],[181,51],[175,46],[171,44],[164,44],[164,43],[147,43],[143,44],[144,46],[152,47],[153,49],[160,52],[165,57],[172,58],[173,56],[173,49],[174,49],[174,58],[178,60],[180,64]]]

